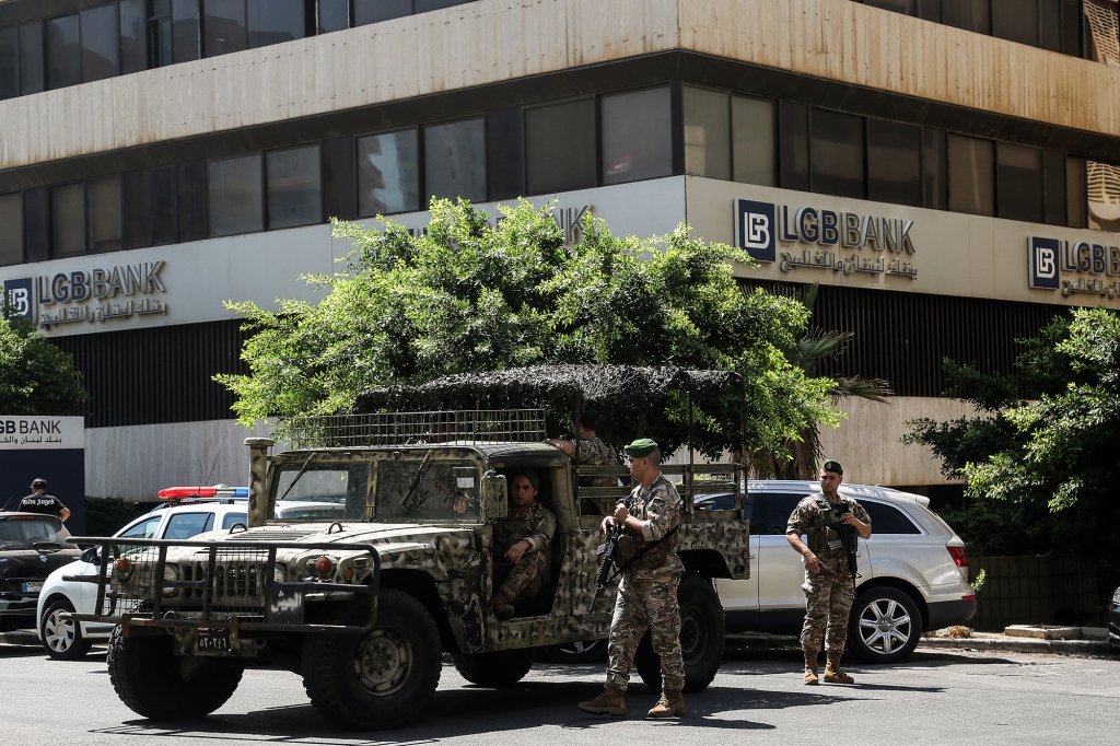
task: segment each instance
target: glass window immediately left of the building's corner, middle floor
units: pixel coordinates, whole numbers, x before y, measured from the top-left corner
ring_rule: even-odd
[[[603,96],[603,183],[622,184],[673,172],[669,86]]]

